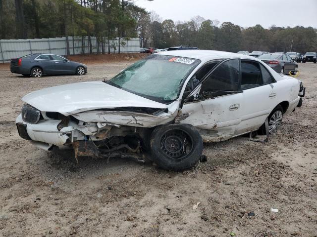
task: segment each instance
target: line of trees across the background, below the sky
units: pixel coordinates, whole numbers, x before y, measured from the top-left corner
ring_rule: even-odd
[[[118,47],[120,52],[120,46],[124,45],[122,39],[132,37],[139,37],[144,47],[190,45],[231,52],[317,51],[317,29],[312,27],[242,28],[200,16],[173,22],[162,20],[155,12],[147,12],[136,3],[133,0],[0,0],[0,39],[88,36],[92,52],[94,36],[98,42],[97,53],[110,52],[110,47]],[[110,45],[114,38],[117,44]],[[84,48],[83,44],[84,40]]]

